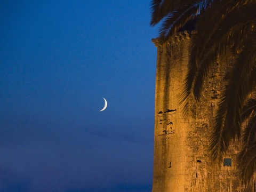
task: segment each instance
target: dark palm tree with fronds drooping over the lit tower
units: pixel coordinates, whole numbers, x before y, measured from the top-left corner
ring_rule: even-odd
[[[227,57],[230,52],[236,58],[219,102],[210,149],[213,159],[220,161],[230,143],[242,139],[238,161],[245,184],[256,170],[256,100],[250,99],[256,91],[255,10],[256,0],[151,2],[150,25],[163,20],[159,29],[162,44],[188,21],[198,19],[181,95],[185,116],[198,103],[204,79],[217,58]],[[244,122],[248,123],[243,132]]]

